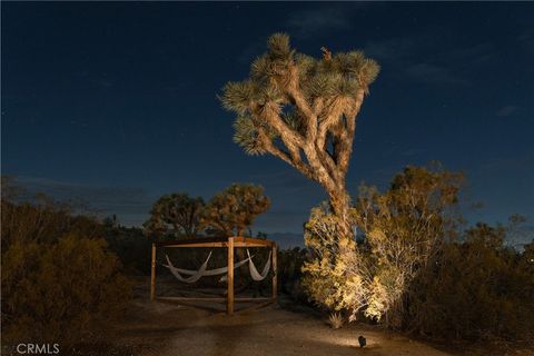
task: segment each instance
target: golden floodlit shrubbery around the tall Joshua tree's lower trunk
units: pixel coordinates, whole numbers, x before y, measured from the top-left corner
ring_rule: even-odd
[[[313,209],[305,243],[314,258],[304,267],[313,299],[346,309],[349,320],[363,312],[400,327],[408,285],[448,234],[447,209],[459,181],[441,167],[407,167],[384,194],[363,186],[350,209],[353,229],[363,233],[360,246],[339,243],[339,221],[328,206]]]

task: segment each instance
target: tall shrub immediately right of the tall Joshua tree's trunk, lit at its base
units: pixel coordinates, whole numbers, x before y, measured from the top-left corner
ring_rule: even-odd
[[[409,285],[454,236],[461,182],[459,174],[431,166],[405,168],[384,194],[360,187],[354,214],[372,257],[368,317],[403,327]]]

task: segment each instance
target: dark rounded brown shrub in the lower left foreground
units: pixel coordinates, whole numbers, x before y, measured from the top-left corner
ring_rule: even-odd
[[[129,295],[106,241],[68,235],[13,244],[2,256],[2,327],[8,342],[80,342],[117,316]]]

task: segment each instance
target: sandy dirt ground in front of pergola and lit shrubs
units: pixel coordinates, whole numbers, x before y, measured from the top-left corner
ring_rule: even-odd
[[[229,317],[221,304],[205,304],[205,309],[150,303],[142,295],[112,335],[118,346],[127,347],[136,356],[534,355],[526,349],[497,354],[444,350],[363,324],[334,330],[324,316],[284,297],[257,309],[239,310],[246,305],[238,305],[236,314]],[[367,339],[365,348],[358,345],[359,335]]]

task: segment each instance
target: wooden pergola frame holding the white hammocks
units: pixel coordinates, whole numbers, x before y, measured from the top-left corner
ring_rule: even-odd
[[[157,297],[156,296],[156,251],[158,247],[180,248],[180,247],[226,247],[228,249],[228,273],[227,273],[227,295],[226,298],[188,298],[188,297]],[[271,297],[270,298],[235,298],[234,297],[234,248],[236,247],[266,247],[271,249]],[[266,301],[273,303],[277,295],[276,276],[276,256],[277,246],[274,241],[250,237],[199,237],[182,239],[176,241],[161,241],[152,244],[151,273],[150,273],[150,300],[174,300],[174,301],[226,301],[226,312],[234,314],[234,301]],[[231,266],[231,267],[230,267]]]

